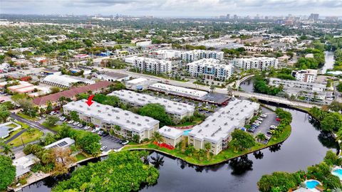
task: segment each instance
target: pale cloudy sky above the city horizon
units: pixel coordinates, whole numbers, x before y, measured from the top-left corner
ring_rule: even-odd
[[[341,10],[342,0],[0,0],[0,13],[16,14],[341,15]]]

